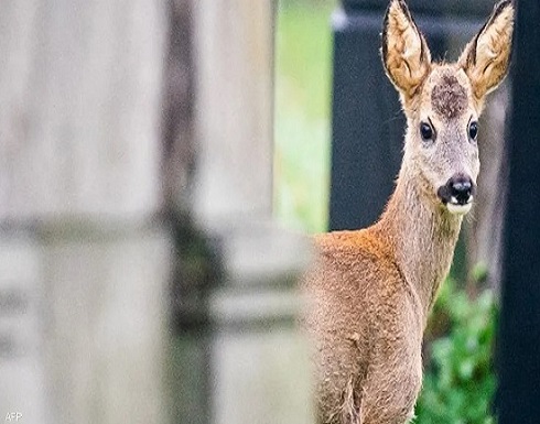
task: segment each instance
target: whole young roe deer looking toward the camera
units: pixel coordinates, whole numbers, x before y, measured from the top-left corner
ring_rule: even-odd
[[[423,330],[473,202],[477,119],[506,75],[512,28],[514,4],[503,1],[456,63],[432,63],[406,2],[389,4],[381,55],[407,116],[403,161],[377,224],[315,238],[303,290],[318,423],[413,416]]]

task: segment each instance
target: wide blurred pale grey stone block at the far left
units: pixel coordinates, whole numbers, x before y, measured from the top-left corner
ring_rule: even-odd
[[[163,423],[152,0],[0,4],[0,413]]]

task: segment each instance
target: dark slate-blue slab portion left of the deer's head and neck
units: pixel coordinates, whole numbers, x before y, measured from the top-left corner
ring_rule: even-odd
[[[379,56],[386,2],[334,13],[330,229],[379,215],[399,170],[404,119]]]

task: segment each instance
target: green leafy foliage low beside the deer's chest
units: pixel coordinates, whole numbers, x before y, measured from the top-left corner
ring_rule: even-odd
[[[445,282],[431,316],[431,328],[443,323],[447,333],[429,343],[415,424],[495,423],[490,405],[496,389],[496,318],[490,291],[471,301],[452,280]]]

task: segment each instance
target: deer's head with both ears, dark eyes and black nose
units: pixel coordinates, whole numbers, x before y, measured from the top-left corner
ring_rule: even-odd
[[[408,122],[402,173],[429,202],[452,214],[472,206],[478,117],[485,96],[506,76],[512,28],[514,4],[501,1],[460,59],[446,64],[431,61],[403,0],[392,0],[385,18],[382,62]]]

